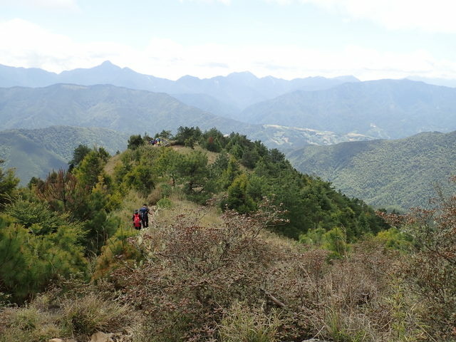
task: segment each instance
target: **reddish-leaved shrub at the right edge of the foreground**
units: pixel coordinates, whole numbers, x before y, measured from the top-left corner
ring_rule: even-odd
[[[452,179],[456,182],[456,177]],[[410,214],[382,214],[412,237],[404,281],[418,294],[421,318],[437,341],[456,339],[456,196],[440,195],[432,209]]]

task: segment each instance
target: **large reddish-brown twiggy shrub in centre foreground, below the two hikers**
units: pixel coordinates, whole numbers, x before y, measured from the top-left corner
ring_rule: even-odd
[[[147,331],[160,336],[154,341],[207,341],[234,301],[264,296],[261,279],[274,251],[259,233],[276,212],[228,211],[212,227],[199,224],[204,214],[181,214],[169,227],[142,234],[137,241],[147,259],[115,271],[128,301],[147,310]]]

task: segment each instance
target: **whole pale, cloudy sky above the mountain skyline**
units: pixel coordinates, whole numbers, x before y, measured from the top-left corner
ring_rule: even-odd
[[[456,79],[455,0],[0,0],[0,64]]]

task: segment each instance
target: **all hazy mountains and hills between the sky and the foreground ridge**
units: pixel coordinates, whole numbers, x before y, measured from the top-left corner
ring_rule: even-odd
[[[415,135],[456,130],[456,88],[427,83],[361,82],[352,76],[286,81],[248,72],[171,81],[110,62],[60,74],[0,65],[0,130],[14,130],[0,132],[0,158],[28,181],[66,165],[81,141],[80,133],[68,130],[85,129],[88,145],[112,152],[123,150],[131,134],[215,127],[289,153],[299,170],[330,180],[350,196],[410,207],[423,204],[432,196],[431,183],[445,182],[455,170],[454,133]],[[83,128],[50,133],[55,125]],[[95,128],[90,135],[93,127],[109,130]],[[68,135],[74,138],[58,138]],[[110,138],[96,139],[105,136]]]

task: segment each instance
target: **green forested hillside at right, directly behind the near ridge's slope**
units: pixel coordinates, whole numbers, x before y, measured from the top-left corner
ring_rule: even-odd
[[[287,156],[301,172],[318,175],[349,196],[375,206],[425,206],[435,185],[456,173],[456,132],[420,133],[400,140],[308,146]]]

